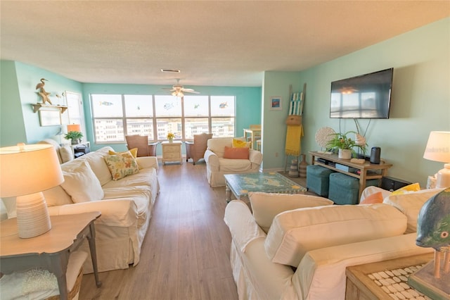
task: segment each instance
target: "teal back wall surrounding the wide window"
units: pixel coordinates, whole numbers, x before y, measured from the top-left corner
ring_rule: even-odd
[[[248,128],[250,124],[261,123],[261,87],[205,87],[189,86],[203,95],[214,96],[236,96],[236,136],[243,135],[243,128]],[[83,84],[84,116],[86,118],[86,134],[90,141],[94,141],[94,131],[92,123],[90,94],[167,94],[162,88],[167,85],[110,85],[97,83]],[[108,144],[117,151],[127,149],[125,144]],[[101,148],[105,144],[92,145],[93,149]],[[185,147],[182,147],[185,153]],[[157,148],[157,155],[161,154],[161,146]]]

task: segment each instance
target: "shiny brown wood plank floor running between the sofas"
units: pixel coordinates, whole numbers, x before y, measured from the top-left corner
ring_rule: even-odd
[[[208,185],[201,162],[160,165],[158,178],[161,190],[141,261],[127,270],[100,273],[100,288],[94,275],[84,275],[79,299],[238,299],[231,236],[223,220],[225,187]]]

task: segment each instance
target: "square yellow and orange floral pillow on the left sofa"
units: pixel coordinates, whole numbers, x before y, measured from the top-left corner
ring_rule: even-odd
[[[125,151],[121,154],[105,156],[105,162],[110,169],[113,180],[120,180],[123,177],[139,172],[136,158],[133,157],[130,151]]]

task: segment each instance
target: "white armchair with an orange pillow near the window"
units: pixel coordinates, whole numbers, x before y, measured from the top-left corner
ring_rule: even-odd
[[[248,159],[224,158],[225,147],[233,146],[233,137],[208,139],[205,151],[206,175],[211,187],[223,187],[226,174],[257,173],[262,163],[262,154],[249,149]]]

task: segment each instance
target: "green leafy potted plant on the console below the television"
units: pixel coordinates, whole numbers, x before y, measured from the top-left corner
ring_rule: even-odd
[[[328,140],[326,144],[327,149],[338,149],[338,157],[342,159],[350,159],[356,151],[354,149],[360,149],[363,154],[366,154],[366,141],[363,137],[361,137],[362,142],[356,143],[356,138],[352,139],[348,137],[348,135],[359,135],[358,132],[348,131],[345,133],[338,132],[330,135],[332,138]]]

